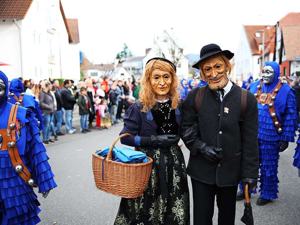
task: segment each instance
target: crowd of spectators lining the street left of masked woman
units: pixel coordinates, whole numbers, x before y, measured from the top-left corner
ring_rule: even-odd
[[[83,134],[92,129],[107,131],[122,122],[124,113],[138,98],[140,85],[140,80],[134,78],[113,80],[106,76],[98,80],[86,78],[76,85],[68,79],[62,84],[52,79],[41,80],[38,84],[33,79],[22,82],[25,94],[32,95],[39,102],[44,119],[44,145],[55,143],[58,136],[77,131],[73,126],[75,110],[79,111]],[[62,125],[65,125],[65,133],[61,132]]]

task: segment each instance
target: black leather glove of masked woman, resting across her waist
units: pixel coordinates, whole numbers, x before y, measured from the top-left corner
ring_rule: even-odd
[[[163,147],[167,148],[178,144],[180,137],[175,134],[152,135],[151,137],[142,137],[141,146]]]

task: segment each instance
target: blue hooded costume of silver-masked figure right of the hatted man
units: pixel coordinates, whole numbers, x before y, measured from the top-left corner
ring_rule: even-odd
[[[274,80],[271,84],[263,84],[261,92],[272,93],[280,82],[280,67],[276,62],[267,62],[265,65],[274,69]],[[255,94],[260,80],[250,84],[250,91]],[[260,176],[260,197],[264,199],[278,198],[278,158],[280,141],[294,142],[297,130],[297,114],[294,90],[283,84],[274,100],[276,116],[281,124],[283,132],[278,134],[273,125],[273,119],[269,113],[268,104],[257,103],[258,106],[258,147]],[[241,189],[241,185],[240,185]],[[256,193],[256,191],[254,191]]]

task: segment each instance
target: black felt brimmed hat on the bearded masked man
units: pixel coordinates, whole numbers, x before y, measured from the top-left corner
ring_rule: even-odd
[[[211,55],[217,54],[217,53],[223,53],[226,56],[226,58],[228,58],[229,60],[232,59],[232,57],[234,55],[229,50],[222,51],[220,46],[218,46],[217,44],[208,44],[208,45],[205,45],[202,47],[202,49],[200,51],[200,59],[195,64],[193,64],[192,67],[199,69],[200,61],[202,61],[205,58],[208,58]]]

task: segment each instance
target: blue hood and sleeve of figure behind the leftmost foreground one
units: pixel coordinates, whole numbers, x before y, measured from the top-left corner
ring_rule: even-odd
[[[15,104],[17,102],[17,100],[13,97],[12,93],[19,98],[20,95],[23,95],[23,99],[22,99],[22,106],[32,110],[33,113],[35,113],[35,118],[40,122],[40,130],[44,130],[44,119],[42,116],[42,111],[41,108],[39,106],[38,101],[35,101],[35,99],[31,96],[31,95],[26,95],[24,94],[24,86],[22,83],[22,80],[15,78],[12,79],[9,85],[9,95],[8,97],[10,98],[10,103],[11,104]]]

